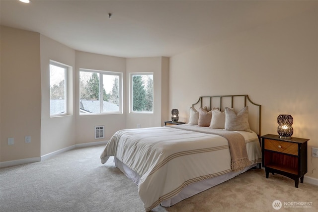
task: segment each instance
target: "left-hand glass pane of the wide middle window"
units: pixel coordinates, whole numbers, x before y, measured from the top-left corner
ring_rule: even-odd
[[[79,71],[80,113],[100,113],[99,73]]]

